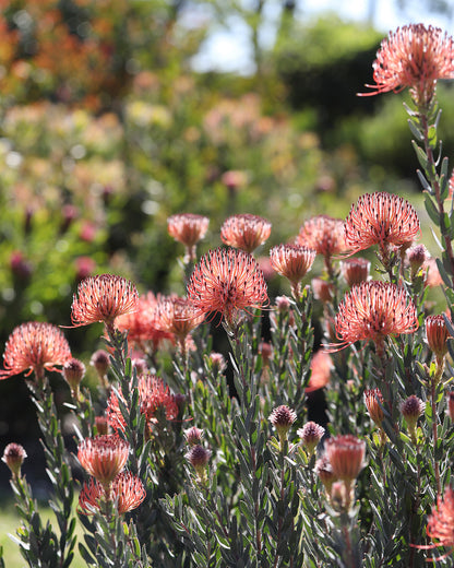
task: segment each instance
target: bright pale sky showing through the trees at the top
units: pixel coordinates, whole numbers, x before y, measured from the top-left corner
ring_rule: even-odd
[[[302,0],[299,16],[307,20],[324,11],[335,11],[348,20],[366,21],[368,14],[368,0]],[[377,0],[374,26],[385,36],[389,31],[395,29],[408,23],[425,23],[437,25],[452,33],[452,23],[440,14],[421,12],[418,0],[407,1],[405,14],[398,12],[397,0]],[[276,4],[270,7],[267,20],[262,39],[263,43],[273,38],[273,20]],[[203,17],[203,14],[199,14]],[[216,31],[204,45],[203,50],[193,59],[194,68],[200,71],[219,70],[249,73],[252,71],[251,45],[248,37],[248,28],[239,19],[229,21],[229,29]]]

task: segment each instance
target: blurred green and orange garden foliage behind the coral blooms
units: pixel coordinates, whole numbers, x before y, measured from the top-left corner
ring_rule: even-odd
[[[264,48],[268,4],[278,17]],[[345,216],[374,190],[414,192],[423,218],[405,94],[356,96],[372,81],[383,37],[371,25],[334,15],[301,22],[295,2],[275,0],[0,0],[0,8],[2,345],[23,321],[69,326],[72,293],[89,274],[183,294],[175,262],[183,251],[167,234],[174,213],[211,218],[201,250],[220,245],[229,214],[267,217],[273,246],[311,215]],[[231,17],[247,25],[254,72],[195,71],[213,27]],[[451,86],[440,99],[449,125]],[[454,132],[442,133],[450,155]],[[272,296],[287,292],[278,279],[270,286]],[[67,336],[87,360],[98,333]],[[5,442],[34,436],[25,390],[15,378],[0,383]]]

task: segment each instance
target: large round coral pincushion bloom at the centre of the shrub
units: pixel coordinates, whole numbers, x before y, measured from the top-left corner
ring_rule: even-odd
[[[266,283],[255,259],[236,249],[204,255],[188,284],[188,298],[201,313],[220,313],[228,326],[240,310],[268,303]]]

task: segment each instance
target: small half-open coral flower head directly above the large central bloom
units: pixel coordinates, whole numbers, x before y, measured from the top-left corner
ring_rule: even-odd
[[[259,215],[234,215],[220,228],[220,239],[229,247],[252,252],[271,235],[271,223]]]

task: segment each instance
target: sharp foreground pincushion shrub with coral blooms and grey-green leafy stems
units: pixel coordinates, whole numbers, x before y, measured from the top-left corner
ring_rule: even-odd
[[[369,94],[410,90],[439,258],[418,242],[409,201],[363,194],[345,220],[303,220],[292,242],[271,247],[289,291],[273,298],[253,256],[267,220],[230,216],[226,246],[198,257],[208,220],[177,214],[168,232],[184,245],[184,297],[111,274],[74,294],[73,327],[104,324],[96,392],[71,329],[13,330],[0,377],[25,374],[55,489],[56,523],[45,523],[21,473],[26,449],[5,448],[28,566],[68,567],[76,552],[101,567],[453,566],[453,192],[437,103],[437,81],[454,78],[453,39],[404,26],[373,69]],[[446,298],[438,312],[433,284]],[[224,328],[228,354],[213,352],[211,326]],[[69,384],[72,450],[49,370]]]

